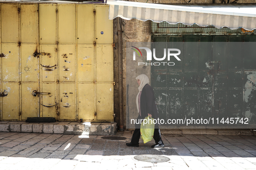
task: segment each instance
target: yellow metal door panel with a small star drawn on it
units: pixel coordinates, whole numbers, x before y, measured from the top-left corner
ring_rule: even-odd
[[[33,54],[37,50],[37,44],[21,44],[21,81],[38,82],[39,58]]]

